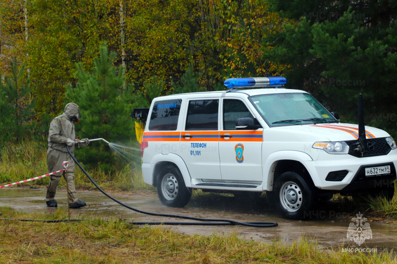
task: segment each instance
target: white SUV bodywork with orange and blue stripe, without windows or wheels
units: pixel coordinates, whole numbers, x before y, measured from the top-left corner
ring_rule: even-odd
[[[357,184],[354,179],[359,177],[358,171],[363,167],[389,164],[391,172],[387,176],[381,175],[380,179],[386,177],[389,182],[396,179],[397,149],[391,149],[386,155],[355,157],[349,154],[333,155],[313,148],[316,142],[357,141],[358,125],[335,122],[270,126],[249,100],[252,96],[288,93],[308,94],[301,90],[265,88],[178,94],[154,99],[143,134],[143,142],[147,142],[142,156],[144,182],[156,186],[158,169],[164,162],[174,164],[179,169],[186,187],[207,190],[272,191],[275,175],[287,171],[284,167],[289,166],[303,168],[318,190],[332,193],[362,189],[366,184],[365,179],[364,183]],[[225,130],[222,105],[223,100],[228,99],[242,101],[262,128]],[[181,100],[176,129],[150,130],[153,106],[172,100]],[[189,102],[197,100],[218,100],[216,130],[186,130]],[[390,137],[387,132],[374,127],[365,126],[365,130],[367,139]],[[186,138],[187,134],[193,137]],[[224,137],[225,134],[232,137]],[[241,149],[243,161],[237,157],[238,144],[244,147]],[[333,171],[347,171],[347,174],[340,181],[326,180]],[[375,178],[370,179],[371,184],[374,184]]]

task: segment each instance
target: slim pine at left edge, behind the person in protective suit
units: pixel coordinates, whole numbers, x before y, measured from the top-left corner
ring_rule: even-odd
[[[30,95],[25,66],[18,66],[16,57],[10,62],[10,76],[0,75],[0,139],[15,139],[32,133],[34,102]]]

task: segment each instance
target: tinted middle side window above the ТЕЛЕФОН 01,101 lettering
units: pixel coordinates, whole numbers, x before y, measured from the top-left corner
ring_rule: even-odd
[[[186,130],[218,130],[219,100],[190,101]]]

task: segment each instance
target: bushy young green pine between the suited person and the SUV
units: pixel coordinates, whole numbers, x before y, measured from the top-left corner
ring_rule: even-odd
[[[130,117],[131,86],[125,86],[125,68],[114,66],[115,60],[116,53],[108,52],[106,43],[101,43],[92,72],[86,72],[81,63],[76,65],[76,87],[67,86],[66,98],[80,107],[81,121],[75,125],[79,139],[104,138],[109,142],[126,143],[135,137]],[[102,142],[80,149],[78,158],[106,171],[119,164],[110,147]]]

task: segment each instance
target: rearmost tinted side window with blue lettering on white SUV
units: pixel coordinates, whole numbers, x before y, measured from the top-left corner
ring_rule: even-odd
[[[150,116],[149,130],[177,130],[181,99],[158,101]]]

